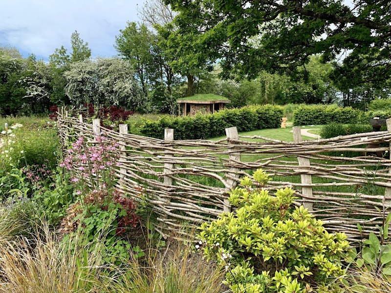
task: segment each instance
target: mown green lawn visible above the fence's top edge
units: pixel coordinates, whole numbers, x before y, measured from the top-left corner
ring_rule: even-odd
[[[321,126],[305,126],[302,128],[305,129],[311,129],[311,128],[320,128]],[[292,126],[287,126],[286,128],[273,128],[273,129],[261,129],[261,130],[254,130],[254,131],[248,131],[248,132],[240,132],[239,135],[245,135],[245,136],[254,136],[254,135],[259,135],[259,136],[264,136],[268,138],[273,138],[273,139],[278,139],[282,141],[287,141],[287,142],[293,142],[293,132],[291,132]],[[316,130],[314,130],[316,131]],[[311,132],[312,133],[312,132]],[[215,137],[212,138],[211,140],[219,140],[225,138],[225,136],[220,136],[220,137]],[[313,137],[309,136],[302,136],[303,140],[312,140],[315,139]],[[242,140],[251,140],[247,138],[241,138]]]

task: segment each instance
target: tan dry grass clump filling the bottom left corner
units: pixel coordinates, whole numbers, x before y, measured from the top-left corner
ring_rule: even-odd
[[[41,231],[33,240],[19,236],[1,241],[0,293],[98,292],[95,275],[103,270],[99,251],[77,241],[72,251],[47,226]],[[87,250],[87,263],[81,266]]]

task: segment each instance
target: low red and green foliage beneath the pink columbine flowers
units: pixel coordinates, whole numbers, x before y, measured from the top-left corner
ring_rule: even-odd
[[[61,222],[63,242],[72,247],[81,235],[86,244],[101,245],[106,263],[121,264],[130,259],[130,243],[121,236],[138,223],[135,209],[134,201],[118,190],[93,190],[67,209]],[[143,251],[133,251],[134,257],[143,256]]]

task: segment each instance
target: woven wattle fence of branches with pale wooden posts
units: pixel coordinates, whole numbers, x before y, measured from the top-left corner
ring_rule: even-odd
[[[388,131],[330,139],[302,141],[300,127],[294,127],[295,141],[284,142],[238,136],[236,127],[231,127],[218,141],[177,141],[173,129],[166,129],[165,140],[159,140],[128,134],[127,125],[115,132],[101,127],[99,119],[88,124],[81,115],[72,116],[59,109],[58,132],[64,147],[78,136],[93,144],[101,131],[117,141],[121,148],[117,187],[139,200],[143,194],[158,214],[163,235],[172,230],[186,234],[184,223],[196,226],[230,211],[228,191],[258,168],[272,175],[266,186],[271,193],[294,188],[298,205],[322,219],[327,230],[345,232],[352,242],[376,230],[391,206],[391,119]],[[376,152],[382,157],[373,156]]]

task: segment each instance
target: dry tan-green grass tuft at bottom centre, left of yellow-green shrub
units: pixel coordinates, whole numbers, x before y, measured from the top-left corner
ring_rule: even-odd
[[[175,242],[175,241],[174,241]],[[131,261],[108,279],[102,292],[108,293],[222,293],[224,271],[192,254],[180,242],[146,260]]]

